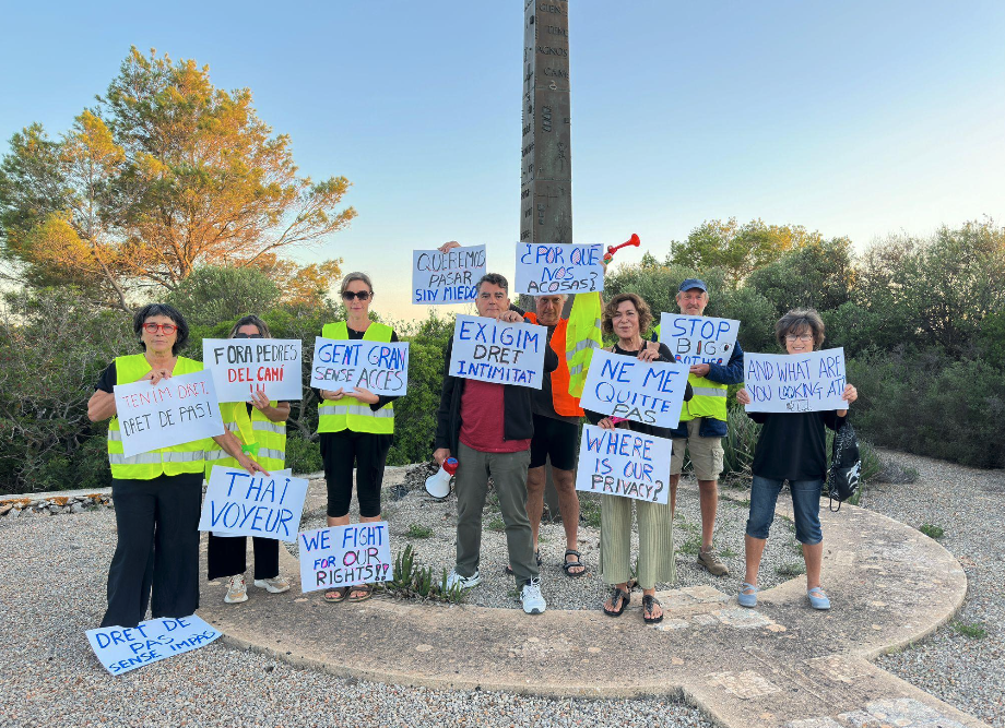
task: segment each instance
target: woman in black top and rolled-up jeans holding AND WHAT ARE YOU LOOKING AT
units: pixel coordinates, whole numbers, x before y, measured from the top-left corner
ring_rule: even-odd
[[[775,325],[778,343],[790,355],[805,355],[824,343],[824,321],[813,309],[794,309]],[[859,393],[846,384],[841,399],[854,402]],[[736,402],[752,403],[750,393],[742,389]],[[820,561],[824,534],[820,530],[820,493],[827,476],[827,435],[837,430],[848,409],[802,413],[757,413],[747,416],[764,425],[754,450],[754,481],[750,486],[750,511],[744,537],[746,581],[737,597],[742,607],[757,605],[757,572],[768,542],[768,529],[775,520],[775,504],[782,484],[789,481],[795,538],[803,545],[806,562],[806,596],[814,609],[830,609],[830,599],[820,586]]]

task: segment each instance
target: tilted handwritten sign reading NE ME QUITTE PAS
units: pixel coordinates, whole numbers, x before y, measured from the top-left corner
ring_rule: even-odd
[[[683,363],[639,361],[596,349],[580,406],[643,425],[677,427],[687,371]]]

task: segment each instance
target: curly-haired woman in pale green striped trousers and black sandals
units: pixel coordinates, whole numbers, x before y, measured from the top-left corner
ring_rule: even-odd
[[[606,336],[617,336],[617,344],[607,348],[614,354],[635,357],[640,361],[673,361],[665,344],[643,342],[641,332],[652,323],[649,305],[638,294],[618,294],[604,306],[601,326]],[[691,398],[690,384],[684,398]],[[586,410],[587,419],[604,429],[624,428],[666,438],[670,430]],[[631,602],[628,587],[631,554],[631,503],[622,496],[602,494],[600,530],[600,570],[612,593],[604,602],[604,613],[620,617]],[[663,620],[663,609],[655,598],[657,582],[673,582],[674,540],[673,516],[669,504],[637,500],[639,527],[638,585],[642,587],[642,619],[647,624]]]

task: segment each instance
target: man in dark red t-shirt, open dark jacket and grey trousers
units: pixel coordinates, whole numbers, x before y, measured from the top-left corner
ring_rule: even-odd
[[[509,310],[508,289],[506,278],[498,273],[482,276],[475,300],[478,315],[522,322],[518,312]],[[521,588],[523,611],[540,614],[546,605],[541,595],[533,533],[527,516],[527,468],[534,434],[532,390],[452,377],[452,351],[451,341],[446,353],[436,451],[433,453],[440,465],[451,453],[460,463],[457,472],[457,565],[447,584],[470,588],[482,582],[478,572],[482,510],[492,477],[506,523],[509,563],[517,586]],[[545,347],[545,374],[557,367],[558,357],[549,346]]]

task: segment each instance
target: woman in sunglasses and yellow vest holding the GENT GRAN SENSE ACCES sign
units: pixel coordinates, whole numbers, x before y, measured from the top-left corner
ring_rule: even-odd
[[[365,273],[342,278],[340,291],[346,320],[324,325],[321,336],[332,339],[397,342],[394,330],[370,321],[374,285]],[[346,392],[348,390],[348,392]],[[328,484],[328,525],[347,526],[353,498],[353,467],[356,468],[356,500],[359,522],[380,521],[380,487],[388,451],[394,441],[394,405],[398,397],[377,395],[362,386],[321,390],[318,432]],[[371,584],[333,587],[324,593],[332,604],[364,601],[374,594]]]

